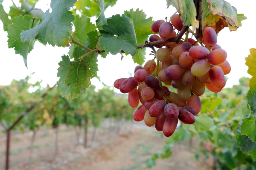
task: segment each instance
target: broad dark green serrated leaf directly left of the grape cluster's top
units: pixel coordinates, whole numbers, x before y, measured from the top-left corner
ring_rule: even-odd
[[[105,47],[105,51],[116,55],[122,50],[129,52],[132,56],[138,53],[136,34],[133,22],[130,18],[122,14],[117,14],[107,20],[107,25],[100,30],[99,44]]]

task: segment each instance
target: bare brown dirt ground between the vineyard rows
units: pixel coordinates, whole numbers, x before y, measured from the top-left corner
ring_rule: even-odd
[[[154,127],[141,128],[125,125],[120,134],[112,126],[97,129],[96,140],[92,139],[93,128],[88,130],[88,145],[75,148],[76,135],[73,127],[61,126],[59,131],[58,156],[54,159],[54,130],[42,128],[35,138],[32,170],[148,170],[146,160],[163,148],[168,138],[162,137]],[[0,134],[0,170],[4,169],[5,136]],[[29,144],[32,132],[12,134],[10,170],[27,170]],[[80,136],[83,139],[83,135]],[[196,143],[194,140],[193,143]],[[176,143],[169,159],[158,159],[151,170],[210,170],[213,160],[204,156],[195,159],[196,147],[189,142]]]

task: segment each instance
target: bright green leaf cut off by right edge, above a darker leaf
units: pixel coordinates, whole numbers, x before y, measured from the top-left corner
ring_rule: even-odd
[[[242,119],[241,135],[248,136],[253,142],[256,142],[256,116]]]

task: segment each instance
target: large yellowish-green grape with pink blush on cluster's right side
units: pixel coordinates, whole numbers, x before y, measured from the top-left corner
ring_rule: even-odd
[[[211,65],[206,59],[200,59],[199,61],[195,62],[192,65],[191,73],[195,77],[200,77],[206,74],[210,68],[211,68]]]

